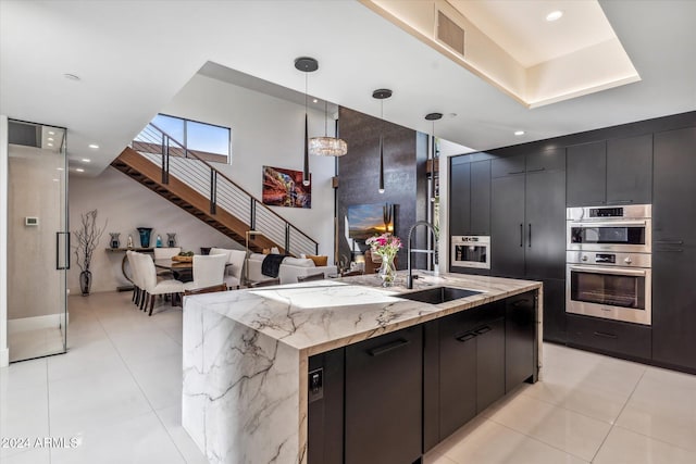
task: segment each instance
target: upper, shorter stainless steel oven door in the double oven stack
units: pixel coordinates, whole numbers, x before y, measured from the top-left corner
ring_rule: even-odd
[[[568,222],[568,250],[649,253],[651,221]]]

